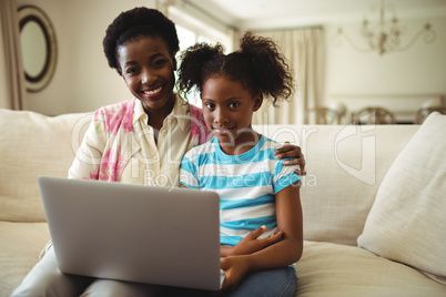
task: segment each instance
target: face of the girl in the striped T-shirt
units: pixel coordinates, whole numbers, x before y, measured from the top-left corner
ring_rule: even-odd
[[[242,154],[257,142],[251,127],[253,113],[262,105],[241,82],[225,75],[207,79],[202,88],[203,115],[226,154]]]

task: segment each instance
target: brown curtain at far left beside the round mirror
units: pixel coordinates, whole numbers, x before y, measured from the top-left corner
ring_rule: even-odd
[[[16,2],[16,0],[0,1],[0,107],[24,110],[27,92]]]

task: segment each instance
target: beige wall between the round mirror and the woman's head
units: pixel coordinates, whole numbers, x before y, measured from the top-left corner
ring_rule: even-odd
[[[53,22],[59,58],[54,76],[28,106],[44,114],[92,111],[131,96],[122,78],[110,69],[102,50],[107,27],[122,11],[154,7],[150,0],[17,0],[18,7],[42,8]]]

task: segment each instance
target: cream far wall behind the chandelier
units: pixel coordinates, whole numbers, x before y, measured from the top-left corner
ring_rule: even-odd
[[[408,50],[384,55],[358,52],[345,39],[337,44],[338,24],[326,25],[325,104],[343,102],[351,111],[382,105],[399,112],[397,120],[404,122],[412,120],[420,105],[439,103],[446,95],[446,17],[401,20],[406,28],[402,44],[407,44],[426,21],[436,31],[434,43],[419,38]],[[366,48],[361,23],[339,25],[356,47]]]

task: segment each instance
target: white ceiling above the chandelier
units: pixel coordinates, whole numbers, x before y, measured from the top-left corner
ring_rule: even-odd
[[[183,0],[221,23],[271,29],[361,21],[377,17],[379,0]],[[446,0],[386,0],[398,18],[446,16]]]

